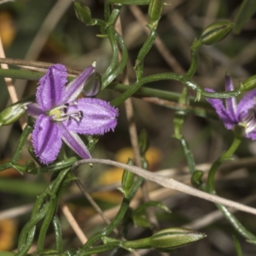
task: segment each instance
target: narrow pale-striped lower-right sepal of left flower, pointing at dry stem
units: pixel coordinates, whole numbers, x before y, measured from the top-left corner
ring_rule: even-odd
[[[86,148],[86,145],[84,145],[81,138],[75,132],[68,131],[67,127],[63,124],[60,124],[60,127],[63,131],[62,140],[68,145],[68,147],[76,152],[76,154],[82,159],[92,158],[90,152]]]

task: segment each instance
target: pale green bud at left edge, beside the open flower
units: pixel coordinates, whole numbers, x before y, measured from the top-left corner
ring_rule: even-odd
[[[26,105],[33,102],[35,96],[29,96],[18,102],[8,106],[0,113],[0,127],[2,125],[10,125],[19,120],[24,115]]]

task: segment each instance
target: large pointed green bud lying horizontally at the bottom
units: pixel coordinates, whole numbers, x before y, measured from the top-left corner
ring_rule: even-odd
[[[205,234],[188,228],[166,228],[150,237],[150,246],[161,252],[168,252],[179,246],[193,243],[205,237]]]

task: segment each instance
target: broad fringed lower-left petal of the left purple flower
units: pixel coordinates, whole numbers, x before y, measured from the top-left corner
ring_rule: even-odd
[[[61,129],[48,116],[40,115],[36,119],[32,144],[41,163],[49,164],[56,159],[62,144],[61,136]]]

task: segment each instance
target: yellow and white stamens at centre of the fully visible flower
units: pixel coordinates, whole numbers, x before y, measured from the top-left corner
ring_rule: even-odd
[[[49,111],[49,116],[51,116],[52,120],[57,122],[63,122],[66,120],[75,119],[77,122],[80,122],[83,118],[83,111],[70,111],[68,112],[68,107],[72,105],[77,105],[77,102],[74,101],[72,104],[66,103],[62,106],[58,106]]]

